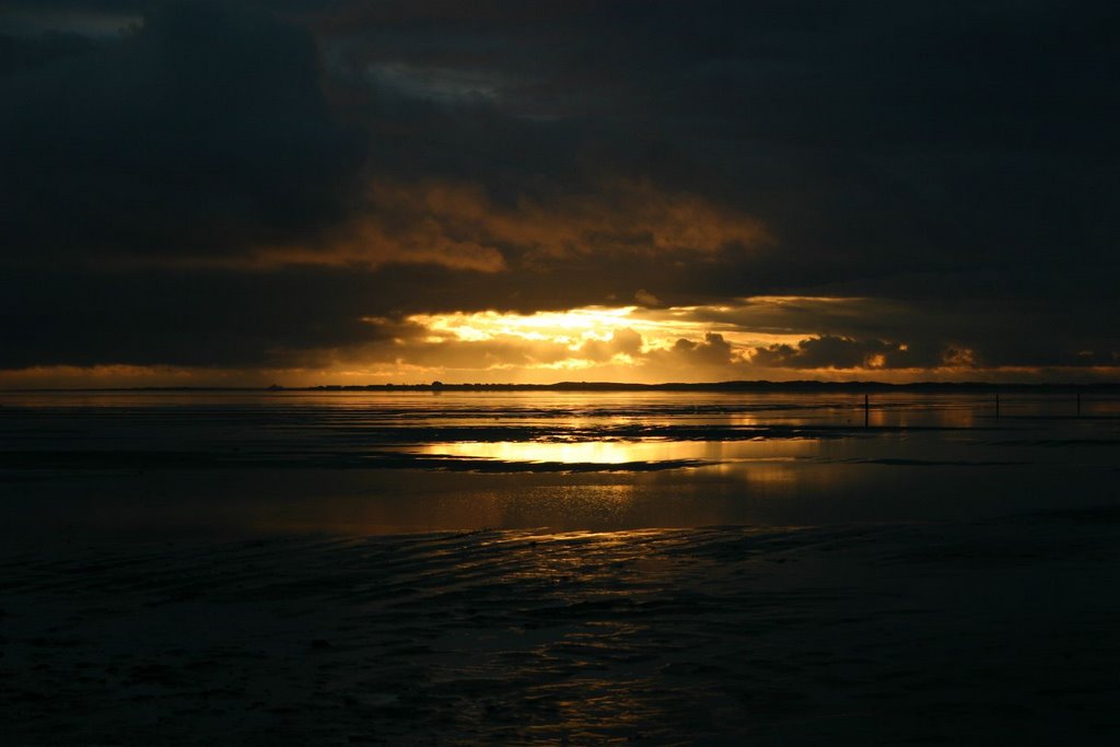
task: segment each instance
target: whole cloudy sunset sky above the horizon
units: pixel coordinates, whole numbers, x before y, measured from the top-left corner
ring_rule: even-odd
[[[0,387],[1118,381],[1118,21],[9,0]]]

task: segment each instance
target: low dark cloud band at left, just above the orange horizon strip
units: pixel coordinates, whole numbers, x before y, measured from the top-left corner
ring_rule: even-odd
[[[0,274],[0,368],[287,365],[301,351],[384,340],[366,279],[319,268],[264,273],[17,269]]]

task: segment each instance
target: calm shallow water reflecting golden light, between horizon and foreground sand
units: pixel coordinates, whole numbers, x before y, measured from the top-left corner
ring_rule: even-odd
[[[1117,499],[1072,395],[0,394],[10,539],[820,524]],[[866,424],[865,424],[866,417]]]

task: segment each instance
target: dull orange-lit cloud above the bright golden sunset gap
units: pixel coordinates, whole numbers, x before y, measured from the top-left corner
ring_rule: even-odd
[[[375,267],[431,263],[498,272],[507,258],[529,263],[587,254],[711,255],[771,242],[763,224],[698,195],[650,181],[609,180],[592,193],[501,204],[465,181],[374,181],[367,209],[321,246],[269,248],[259,264]],[[652,299],[643,298],[643,302]]]

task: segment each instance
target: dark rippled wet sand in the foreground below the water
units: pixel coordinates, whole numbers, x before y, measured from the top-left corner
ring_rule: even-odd
[[[1120,743],[1120,511],[8,552],[6,745]]]

